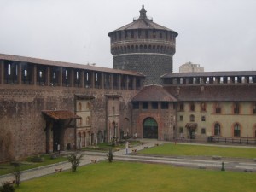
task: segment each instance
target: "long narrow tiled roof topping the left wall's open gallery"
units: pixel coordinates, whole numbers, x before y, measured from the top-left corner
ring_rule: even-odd
[[[118,74],[144,77],[143,74],[137,73],[137,72],[131,72],[131,71],[125,71],[125,70],[119,70],[119,69],[113,69],[113,68],[107,68],[107,67],[96,67],[91,65],[75,64],[70,62],[50,61],[50,60],[43,60],[43,59],[18,56],[18,55],[0,54],[0,60],[20,61],[20,62],[28,62],[28,63],[34,63],[34,64],[40,64],[40,65],[55,66],[55,67],[70,67],[70,68],[85,69],[85,70],[97,71],[97,72],[118,73]]]

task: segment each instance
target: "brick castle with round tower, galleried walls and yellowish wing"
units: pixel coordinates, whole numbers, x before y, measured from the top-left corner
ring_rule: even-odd
[[[113,68],[0,54],[0,161],[125,137],[256,143],[256,72],[172,73],[177,32],[109,32]]]

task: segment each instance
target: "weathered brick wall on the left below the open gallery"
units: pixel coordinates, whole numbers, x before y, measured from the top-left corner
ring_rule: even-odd
[[[65,109],[74,112],[74,96],[91,95],[91,131],[106,128],[106,96],[115,94],[120,97],[120,118],[129,110],[126,105],[136,90],[100,90],[68,87],[44,87],[32,85],[3,84],[0,87],[0,142],[8,143],[9,148],[1,148],[0,160],[19,159],[30,154],[46,151],[45,119],[43,110]],[[66,130],[65,140],[73,141],[74,132]],[[9,136],[9,141],[6,139]],[[1,137],[3,138],[1,140]],[[73,143],[74,144],[74,143]],[[3,153],[2,153],[3,152]]]

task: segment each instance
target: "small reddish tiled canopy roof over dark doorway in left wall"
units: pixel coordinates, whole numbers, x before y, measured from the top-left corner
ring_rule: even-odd
[[[55,120],[63,120],[63,119],[80,119],[80,117],[76,114],[74,114],[71,111],[67,110],[58,110],[58,111],[42,111],[46,116],[48,116],[51,119]]]

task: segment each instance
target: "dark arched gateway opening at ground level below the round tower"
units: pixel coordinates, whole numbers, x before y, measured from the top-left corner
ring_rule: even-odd
[[[158,125],[153,118],[147,118],[144,120],[143,138],[158,138]]]

